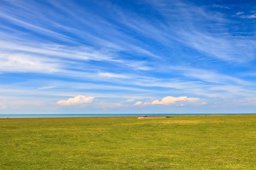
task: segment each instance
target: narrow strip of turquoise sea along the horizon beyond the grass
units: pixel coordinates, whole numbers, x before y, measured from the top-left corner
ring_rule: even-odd
[[[132,117],[139,115],[148,116],[205,116],[205,115],[256,115],[256,113],[205,113],[205,114],[0,114],[0,118],[39,118],[39,117]]]

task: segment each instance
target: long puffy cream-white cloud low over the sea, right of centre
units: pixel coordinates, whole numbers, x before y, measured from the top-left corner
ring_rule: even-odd
[[[172,96],[167,96],[162,98],[161,101],[159,100],[154,100],[153,102],[151,102],[151,105],[170,105],[172,103],[178,102],[178,101],[189,101],[189,102],[193,102],[193,101],[197,101],[199,100],[199,98],[194,98],[194,97],[187,97],[187,96],[181,96],[181,97],[172,97]]]

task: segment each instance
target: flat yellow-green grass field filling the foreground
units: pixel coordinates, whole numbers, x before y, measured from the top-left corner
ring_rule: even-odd
[[[0,119],[0,169],[256,169],[256,115]]]

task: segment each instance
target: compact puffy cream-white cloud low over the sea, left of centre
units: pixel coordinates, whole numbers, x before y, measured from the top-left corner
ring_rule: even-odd
[[[85,97],[82,95],[78,95],[74,98],[69,98],[68,100],[59,100],[56,104],[59,105],[78,105],[82,103],[91,103],[94,97]]]

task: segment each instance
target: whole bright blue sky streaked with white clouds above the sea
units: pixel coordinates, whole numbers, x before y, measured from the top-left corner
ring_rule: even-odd
[[[256,2],[0,1],[0,114],[255,113]]]

